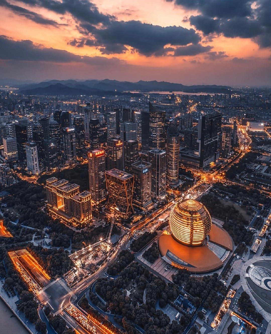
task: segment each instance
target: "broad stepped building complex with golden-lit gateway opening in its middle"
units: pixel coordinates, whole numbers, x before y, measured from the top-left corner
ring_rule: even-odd
[[[51,177],[46,180],[47,208],[53,218],[68,225],[84,227],[91,222],[91,193],[67,180]]]

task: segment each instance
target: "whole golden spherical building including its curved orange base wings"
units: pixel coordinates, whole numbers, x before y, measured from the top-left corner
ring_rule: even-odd
[[[162,258],[194,273],[215,271],[233,249],[230,235],[212,224],[206,207],[194,199],[175,204],[169,217],[170,233],[159,238]]]

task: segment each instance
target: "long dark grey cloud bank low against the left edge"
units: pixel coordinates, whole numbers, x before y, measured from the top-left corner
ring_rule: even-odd
[[[0,36],[0,59],[40,62],[69,63],[78,62],[89,65],[119,64],[117,58],[80,56],[65,50],[41,47],[30,40],[15,41],[7,36]]]

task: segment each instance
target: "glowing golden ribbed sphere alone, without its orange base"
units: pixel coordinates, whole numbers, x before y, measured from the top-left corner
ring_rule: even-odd
[[[176,241],[186,246],[201,246],[211,231],[212,220],[202,203],[185,199],[171,210],[169,227]]]

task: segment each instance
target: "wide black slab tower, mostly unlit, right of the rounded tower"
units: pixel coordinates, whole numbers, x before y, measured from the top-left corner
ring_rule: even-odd
[[[217,161],[221,142],[221,113],[201,115],[198,121],[199,167]]]

